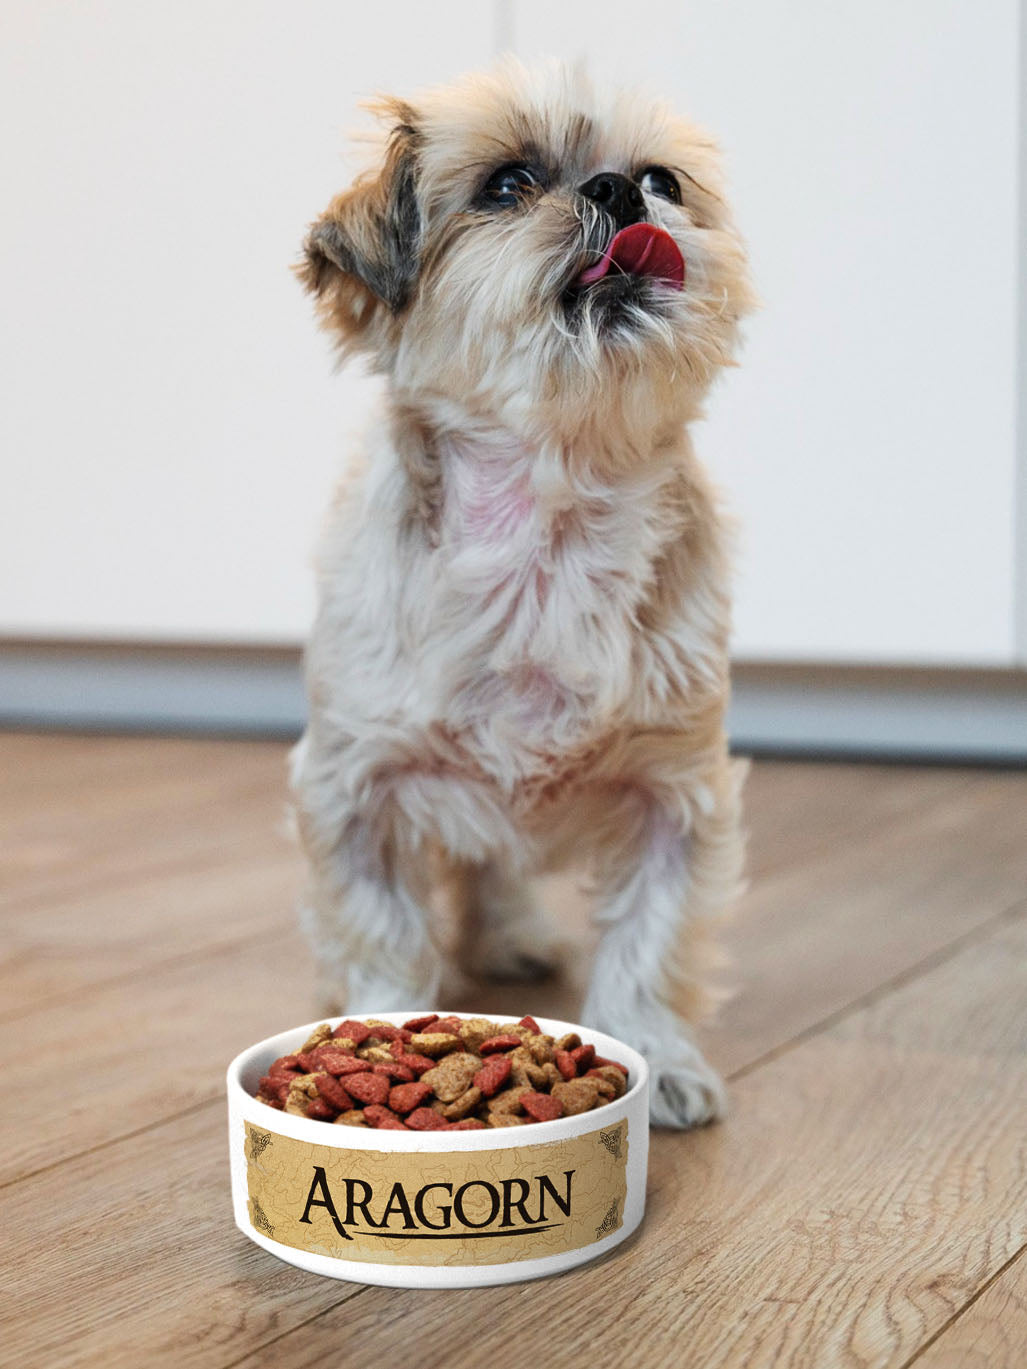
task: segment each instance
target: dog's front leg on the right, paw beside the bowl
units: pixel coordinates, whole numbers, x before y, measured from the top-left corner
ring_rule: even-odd
[[[737,806],[728,799],[687,830],[655,801],[633,795],[631,808],[603,861],[603,936],[582,1020],[646,1057],[655,1124],[694,1127],[722,1114],[724,1086],[682,1014],[698,988],[690,941],[737,890]]]

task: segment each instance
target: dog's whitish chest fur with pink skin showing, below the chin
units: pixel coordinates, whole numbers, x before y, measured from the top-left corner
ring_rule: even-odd
[[[639,482],[572,483],[516,448],[452,453],[431,613],[451,721],[504,753],[581,746],[630,691],[659,549]]]

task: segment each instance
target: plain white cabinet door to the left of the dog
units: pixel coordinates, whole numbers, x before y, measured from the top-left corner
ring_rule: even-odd
[[[0,632],[300,641],[367,383],[289,264],[356,101],[493,45],[474,0],[4,0]]]

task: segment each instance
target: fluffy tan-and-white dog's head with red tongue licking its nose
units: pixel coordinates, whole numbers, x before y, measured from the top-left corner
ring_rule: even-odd
[[[314,223],[300,274],[403,393],[515,426],[612,394],[665,412],[730,360],[745,257],[696,127],[511,60],[377,108],[383,153]]]

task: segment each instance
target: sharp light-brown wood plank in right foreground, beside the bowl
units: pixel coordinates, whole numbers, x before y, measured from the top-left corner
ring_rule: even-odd
[[[1027,919],[655,1138],[638,1238],[542,1288],[368,1288],[246,1366],[890,1369],[1027,1242]]]

